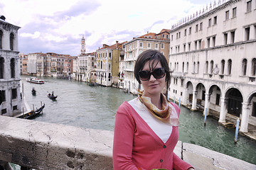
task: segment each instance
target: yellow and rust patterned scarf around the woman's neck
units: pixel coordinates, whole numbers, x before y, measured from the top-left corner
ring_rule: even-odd
[[[171,106],[171,103],[166,100],[164,94],[161,94],[162,100],[162,109],[160,110],[153,103],[151,103],[151,98],[142,96],[143,91],[138,89],[138,97],[139,101],[141,101],[144,106],[149,110],[149,113],[154,115],[155,118],[161,120],[164,123],[168,123],[172,126],[178,126],[178,115],[175,111],[175,108]],[[173,108],[173,109],[172,109]],[[173,111],[174,110],[174,111]]]

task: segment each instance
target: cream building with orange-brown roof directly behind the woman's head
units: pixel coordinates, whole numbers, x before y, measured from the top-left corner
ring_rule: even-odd
[[[137,94],[137,89],[142,88],[134,77],[134,64],[139,54],[149,49],[159,50],[168,60],[169,43],[169,30],[163,29],[158,34],[146,33],[124,44],[124,89]]]

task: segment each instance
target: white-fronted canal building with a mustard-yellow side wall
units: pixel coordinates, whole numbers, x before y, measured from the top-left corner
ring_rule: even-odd
[[[124,43],[103,45],[96,50],[96,82],[102,86],[118,86],[119,60],[124,55]]]

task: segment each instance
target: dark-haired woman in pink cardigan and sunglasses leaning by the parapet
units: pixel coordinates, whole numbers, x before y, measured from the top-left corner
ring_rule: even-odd
[[[134,76],[144,91],[117,110],[114,170],[193,169],[173,152],[178,142],[179,108],[162,94],[171,80],[166,58],[156,50],[142,52]]]

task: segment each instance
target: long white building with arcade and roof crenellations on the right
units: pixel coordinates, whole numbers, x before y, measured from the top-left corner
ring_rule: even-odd
[[[170,32],[169,96],[192,110],[216,111],[220,123],[256,125],[256,1],[210,4]]]

